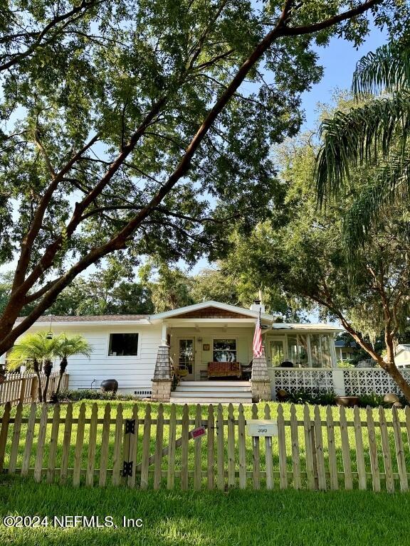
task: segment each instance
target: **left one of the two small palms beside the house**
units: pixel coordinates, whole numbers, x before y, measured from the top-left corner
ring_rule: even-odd
[[[46,402],[47,400],[48,382],[53,369],[57,344],[58,337],[48,339],[46,332],[28,333],[10,351],[11,360],[7,365],[9,371],[15,370],[21,364],[26,363],[27,367],[32,368],[36,373],[39,402]],[[44,385],[43,392],[41,392],[41,368],[44,375],[46,375],[46,385]]]

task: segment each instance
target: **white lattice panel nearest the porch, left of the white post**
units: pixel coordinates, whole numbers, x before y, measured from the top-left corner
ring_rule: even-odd
[[[298,392],[300,390],[332,392],[335,390],[332,370],[285,370],[283,368],[275,368],[273,375],[276,392],[279,389],[284,389],[287,392]]]

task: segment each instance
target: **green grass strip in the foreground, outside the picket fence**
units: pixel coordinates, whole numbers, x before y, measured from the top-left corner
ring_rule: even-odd
[[[117,529],[5,528],[4,546],[409,545],[410,493],[140,491],[1,478],[5,515],[111,515]],[[122,528],[122,516],[142,518]]]

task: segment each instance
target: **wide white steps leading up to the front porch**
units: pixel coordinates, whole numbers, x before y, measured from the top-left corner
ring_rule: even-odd
[[[175,404],[251,404],[248,381],[182,381],[171,392]]]

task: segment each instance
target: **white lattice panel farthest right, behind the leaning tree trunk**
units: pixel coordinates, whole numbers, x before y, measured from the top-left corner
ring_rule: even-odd
[[[409,382],[410,370],[401,370],[401,373],[404,379]],[[401,395],[399,387],[397,387],[390,375],[382,369],[343,370],[343,378],[347,396],[385,395],[387,392],[396,392],[396,394]]]

